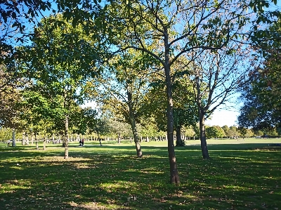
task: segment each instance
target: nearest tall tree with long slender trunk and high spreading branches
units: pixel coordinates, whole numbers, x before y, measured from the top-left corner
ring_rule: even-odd
[[[195,48],[218,49],[235,39],[245,25],[245,1],[112,1],[108,22],[112,34],[127,38],[121,48],[135,48],[159,60],[165,72],[167,136],[170,181],[179,183],[174,151],[174,119],[171,66]],[[131,30],[133,29],[133,31]],[[150,48],[157,43],[159,48]],[[202,145],[204,158],[209,158]]]

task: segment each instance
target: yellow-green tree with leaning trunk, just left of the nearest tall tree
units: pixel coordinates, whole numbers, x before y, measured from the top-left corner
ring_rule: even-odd
[[[110,71],[103,74],[100,82],[101,103],[116,116],[122,116],[120,121],[131,125],[138,157],[143,157],[143,152],[136,123],[140,122],[140,107],[149,89],[150,63],[145,53],[130,49],[110,60]]]

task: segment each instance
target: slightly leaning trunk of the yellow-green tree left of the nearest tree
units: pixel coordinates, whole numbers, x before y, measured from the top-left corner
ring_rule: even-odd
[[[141,144],[138,138],[138,131],[136,129],[136,119],[133,113],[133,102],[132,102],[131,90],[129,89],[129,87],[127,88],[127,96],[128,96],[128,105],[129,105],[130,124],[133,132],[133,140],[136,144],[136,155],[138,157],[143,157],[143,152],[141,151]]]

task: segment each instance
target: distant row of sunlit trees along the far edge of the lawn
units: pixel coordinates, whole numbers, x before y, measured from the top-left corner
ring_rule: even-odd
[[[72,133],[70,129],[69,141],[79,141],[82,138],[85,140],[131,140],[131,128],[129,124],[117,122],[114,119],[103,119],[107,122],[100,124],[100,127],[97,127],[93,133],[89,133],[89,130],[86,130],[84,133]],[[159,131],[154,124],[141,126],[137,124],[137,131],[140,136],[141,142],[149,141],[166,141],[166,133],[164,131]],[[251,138],[251,137],[277,137],[280,136],[280,133],[276,129],[268,131],[268,129],[263,129],[262,131],[253,131],[252,129],[240,129],[236,126],[206,126],[207,138]],[[180,136],[177,136],[178,133],[174,133],[174,140],[177,140],[176,146],[185,145],[186,140],[195,140],[200,139],[200,128],[199,124],[197,126],[185,127],[183,126]],[[0,140],[7,141],[11,140],[13,136],[13,129],[1,128],[0,129]],[[23,141],[32,141],[34,142],[34,133],[16,133],[15,138],[17,140]],[[178,138],[181,140],[178,141]],[[46,140],[48,142],[55,141],[55,143],[60,142],[63,139],[60,134],[57,133],[38,133],[37,140]]]

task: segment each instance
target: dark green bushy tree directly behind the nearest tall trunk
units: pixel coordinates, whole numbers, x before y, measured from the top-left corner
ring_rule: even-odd
[[[178,66],[177,68],[179,68]],[[173,70],[175,71],[175,70]],[[172,88],[174,94],[174,129],[176,130],[176,146],[184,146],[185,142],[181,138],[183,126],[194,126],[197,119],[197,107],[194,100],[190,97],[192,86],[187,78],[173,78]],[[145,97],[146,102],[143,105],[143,113],[147,118],[153,116],[158,128],[166,131],[166,99],[165,84],[162,79],[154,79],[151,84],[152,89]]]

